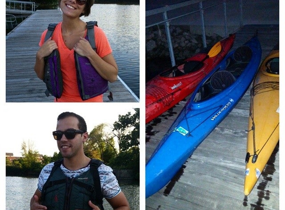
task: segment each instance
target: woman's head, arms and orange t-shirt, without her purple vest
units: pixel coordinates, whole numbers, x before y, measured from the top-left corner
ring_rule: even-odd
[[[102,29],[96,26],[94,29],[96,52],[89,41],[84,38],[87,33],[87,24],[80,17],[88,16],[93,4],[94,0],[59,0],[63,12],[62,22],[57,24],[52,37],[46,42],[44,38],[47,30],[41,36],[34,70],[38,78],[43,80],[44,58],[53,50],[58,49],[63,76],[63,93],[60,99],[56,99],[57,102],[83,102],[77,85],[74,52],[87,57],[98,74],[105,80],[114,82],[117,79],[118,67]],[[99,95],[84,102],[102,102],[102,98],[103,96]]]

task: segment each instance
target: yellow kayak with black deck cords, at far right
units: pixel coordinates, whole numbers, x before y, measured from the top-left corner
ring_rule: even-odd
[[[278,46],[278,45],[277,45]],[[262,62],[251,89],[244,194],[257,183],[279,141],[279,47]]]

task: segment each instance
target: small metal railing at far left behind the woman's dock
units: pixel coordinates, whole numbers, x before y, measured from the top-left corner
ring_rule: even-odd
[[[33,13],[36,3],[32,1],[6,0],[6,12]]]

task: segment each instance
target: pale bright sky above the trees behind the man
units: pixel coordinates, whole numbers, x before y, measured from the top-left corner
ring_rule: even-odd
[[[21,156],[23,141],[33,145],[32,149],[42,155],[53,156],[58,152],[52,131],[56,130],[57,117],[64,111],[71,111],[85,118],[87,131],[90,133],[100,123],[112,125],[118,115],[132,114],[134,104],[122,105],[115,103],[9,103],[3,105],[1,121],[2,143],[4,151]]]

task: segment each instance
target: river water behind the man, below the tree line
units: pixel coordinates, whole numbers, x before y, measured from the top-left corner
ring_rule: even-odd
[[[29,210],[30,200],[36,191],[38,179],[25,177],[6,177],[6,210]],[[139,210],[139,185],[120,182],[131,210]],[[104,200],[104,209],[112,210]]]

